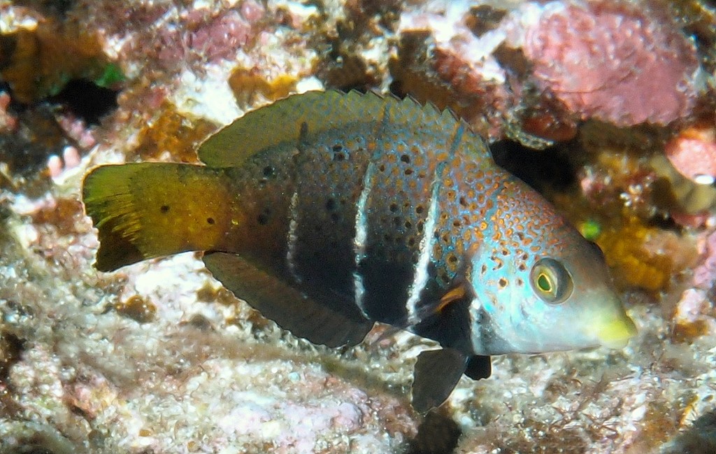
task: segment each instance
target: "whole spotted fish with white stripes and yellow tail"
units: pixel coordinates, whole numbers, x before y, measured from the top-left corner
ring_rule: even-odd
[[[353,346],[379,322],[432,339],[427,412],[490,357],[620,348],[637,329],[599,247],[450,110],[374,92],[306,92],[248,112],[201,164],[101,165],[84,178],[95,267],[203,251],[280,327]]]

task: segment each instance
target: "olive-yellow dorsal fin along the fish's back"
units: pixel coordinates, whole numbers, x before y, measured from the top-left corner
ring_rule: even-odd
[[[355,90],[349,93],[336,90],[305,92],[234,120],[208,137],[200,145],[198,155],[210,167],[235,167],[268,148],[299,143],[301,135],[379,120],[406,127],[433,127],[436,132],[452,131],[460,121],[447,110],[441,113],[434,106],[422,106],[412,98],[399,100],[394,96],[382,97],[374,92],[362,94]],[[366,129],[366,134],[370,133],[371,130]],[[486,148],[480,146],[481,140],[465,142],[474,143],[476,151],[486,153]]]

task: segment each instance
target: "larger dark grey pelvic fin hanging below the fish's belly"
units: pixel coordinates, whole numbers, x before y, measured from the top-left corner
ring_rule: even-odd
[[[412,406],[424,413],[445,402],[465,372],[467,357],[456,349],[427,350],[417,357]]]

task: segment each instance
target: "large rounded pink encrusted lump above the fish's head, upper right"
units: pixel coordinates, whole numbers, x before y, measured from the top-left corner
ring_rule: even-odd
[[[672,21],[613,1],[543,10],[523,50],[543,90],[581,119],[667,124],[695,104],[696,48]]]

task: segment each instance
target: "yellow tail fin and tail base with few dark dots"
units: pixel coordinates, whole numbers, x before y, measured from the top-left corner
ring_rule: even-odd
[[[174,163],[105,165],[82,198],[100,231],[95,266],[112,271],[152,257],[218,248],[236,225],[222,169]]]

